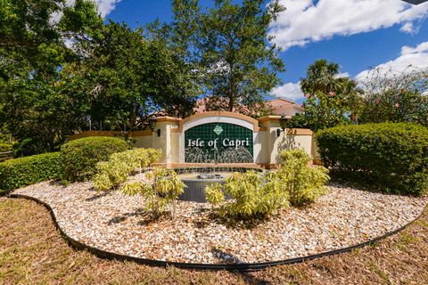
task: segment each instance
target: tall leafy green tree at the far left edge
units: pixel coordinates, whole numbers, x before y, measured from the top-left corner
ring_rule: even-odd
[[[0,5],[0,117],[21,142],[22,153],[52,151],[75,127],[70,99],[59,95],[59,71],[76,59],[66,40],[86,35],[102,19],[92,1],[64,3],[3,0]]]

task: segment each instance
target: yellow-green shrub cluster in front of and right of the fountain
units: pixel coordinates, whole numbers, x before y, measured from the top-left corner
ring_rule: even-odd
[[[277,171],[260,174],[235,173],[225,185],[211,184],[205,196],[220,216],[234,219],[265,218],[290,204],[299,207],[325,194],[328,181],[325,167],[309,167],[306,151],[281,152],[283,165]],[[226,194],[232,199],[225,200]]]

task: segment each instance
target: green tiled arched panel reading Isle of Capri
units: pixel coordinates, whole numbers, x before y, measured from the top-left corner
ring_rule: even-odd
[[[228,123],[208,123],[185,131],[185,162],[252,162],[252,130]]]

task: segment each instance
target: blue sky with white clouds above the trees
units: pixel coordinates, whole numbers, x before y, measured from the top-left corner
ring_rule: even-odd
[[[370,67],[401,71],[428,68],[428,3],[400,0],[281,0],[287,8],[271,27],[284,51],[284,85],[274,94],[302,102],[299,79],[313,61],[342,66],[344,75],[363,80]],[[98,0],[106,19],[131,27],[172,17],[170,0]],[[202,0],[203,5],[212,3]],[[267,1],[268,3],[268,1]]]

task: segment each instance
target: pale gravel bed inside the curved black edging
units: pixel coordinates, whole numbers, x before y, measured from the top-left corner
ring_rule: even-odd
[[[144,199],[99,193],[91,183],[38,183],[14,191],[53,208],[70,238],[113,253],[185,263],[259,263],[309,256],[373,240],[413,221],[428,199],[339,185],[309,208],[288,208],[251,228],[210,216],[210,205],[177,202],[177,219],[152,221]]]

